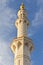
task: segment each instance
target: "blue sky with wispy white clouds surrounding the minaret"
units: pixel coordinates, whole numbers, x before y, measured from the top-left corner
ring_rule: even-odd
[[[0,65],[14,65],[11,41],[17,36],[14,23],[23,0],[0,0]],[[24,0],[30,27],[28,37],[33,40],[31,65],[43,65],[43,0]]]

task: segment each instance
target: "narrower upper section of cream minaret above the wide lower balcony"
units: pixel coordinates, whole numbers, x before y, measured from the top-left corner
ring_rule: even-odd
[[[24,9],[24,5],[20,6],[20,10],[18,11],[18,18],[15,22],[17,27],[17,37],[25,36],[27,37],[27,29],[29,26],[29,20],[27,19],[27,12]]]

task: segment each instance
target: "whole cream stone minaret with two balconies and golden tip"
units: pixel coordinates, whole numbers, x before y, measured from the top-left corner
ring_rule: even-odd
[[[18,18],[15,22],[17,28],[17,38],[11,43],[11,50],[14,53],[14,65],[30,65],[30,54],[33,50],[33,42],[28,38],[27,30],[29,20],[24,4],[20,6]]]

